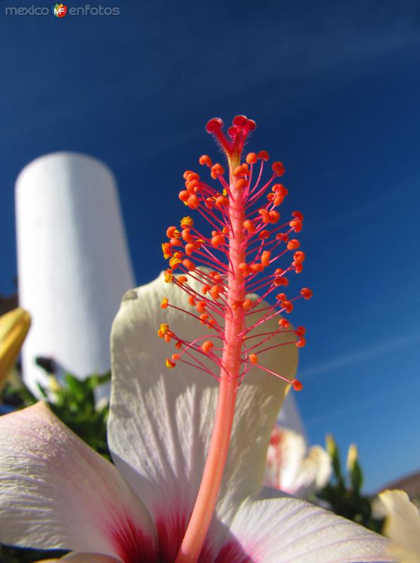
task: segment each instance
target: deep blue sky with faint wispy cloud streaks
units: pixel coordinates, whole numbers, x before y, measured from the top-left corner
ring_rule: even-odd
[[[183,213],[183,170],[216,155],[204,123],[245,113],[249,148],[285,163],[286,208],[305,215],[299,281],[315,298],[292,320],[308,329],[311,442],[357,442],[369,490],[419,469],[418,2],[101,4],[121,15],[6,17],[29,2],[0,1],[0,293],[30,160],[81,151],[113,169],[142,284]]]

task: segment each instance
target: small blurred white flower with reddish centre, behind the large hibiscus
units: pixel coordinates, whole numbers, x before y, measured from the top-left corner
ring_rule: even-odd
[[[298,498],[319,491],[331,477],[331,457],[320,445],[307,451],[301,434],[276,426],[268,446],[264,485]]]

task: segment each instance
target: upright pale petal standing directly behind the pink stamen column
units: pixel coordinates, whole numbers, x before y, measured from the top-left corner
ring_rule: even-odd
[[[113,324],[109,442],[117,466],[158,521],[160,545],[170,545],[173,553],[197,495],[218,386],[208,374],[181,363],[171,370],[164,367],[173,346],[156,335],[161,322],[185,339],[208,332],[189,315],[171,308],[161,310],[164,296],[169,303],[189,308],[185,293],[175,284],[165,284],[161,275],[125,295]],[[264,330],[277,327],[273,320]],[[280,338],[291,340],[290,334]],[[260,361],[292,379],[297,348],[271,350]],[[266,448],[285,387],[283,381],[255,368],[240,386],[219,502],[224,514],[233,512],[261,484]]]

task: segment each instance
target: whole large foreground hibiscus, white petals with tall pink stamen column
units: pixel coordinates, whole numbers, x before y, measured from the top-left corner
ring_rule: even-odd
[[[295,211],[278,225],[276,207],[288,191],[274,184],[266,192],[284,174],[282,163],[273,163],[263,186],[268,153],[249,153],[241,163],[253,129],[242,115],[228,137],[220,119],[208,122],[226,152],[228,182],[223,166],[203,155],[199,163],[220,191],[187,170],[179,197],[214,230],[202,234],[191,217],[182,230],[169,227],[162,248],[170,267],[123,299],[111,334],[115,465],[43,403],[0,417],[1,542],[72,550],[80,563],[390,560],[381,555],[383,538],[261,489],[282,400],[290,386],[302,388],[295,369],[304,327],[280,314],[311,290],[296,298],[278,293],[276,305],[263,301],[288,285],[288,273],[302,272],[304,253],[290,237],[303,215]],[[288,252],[290,265],[268,275]],[[259,290],[261,298],[253,294]],[[175,346],[165,362],[170,371],[162,362],[167,346]]]

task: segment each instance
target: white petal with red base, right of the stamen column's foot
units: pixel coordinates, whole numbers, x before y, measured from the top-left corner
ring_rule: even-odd
[[[395,561],[383,555],[386,545],[382,536],[308,502],[249,498],[230,524],[230,537],[216,563]]]

